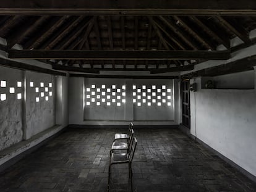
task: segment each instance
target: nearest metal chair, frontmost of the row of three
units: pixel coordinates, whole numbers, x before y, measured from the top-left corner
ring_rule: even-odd
[[[111,165],[114,164],[128,164],[129,165],[129,178],[132,178],[132,159],[134,159],[134,152],[137,146],[137,139],[132,138],[132,143],[130,144],[129,152],[112,152],[111,159],[109,162],[108,169],[108,191],[110,188],[110,177],[111,177]],[[130,180],[132,184],[132,179]]]

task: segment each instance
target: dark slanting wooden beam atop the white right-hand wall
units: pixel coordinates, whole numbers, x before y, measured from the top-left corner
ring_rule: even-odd
[[[222,64],[215,67],[198,70],[192,73],[187,73],[186,75],[182,75],[182,78],[203,76],[213,77],[217,75],[225,75],[229,73],[253,70],[254,66],[256,66],[256,55],[245,57],[244,59],[239,59],[237,61],[229,62],[227,64]]]

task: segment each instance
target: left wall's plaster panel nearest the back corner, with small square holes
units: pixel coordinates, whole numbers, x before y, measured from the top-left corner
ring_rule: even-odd
[[[53,75],[26,72],[26,80],[26,139],[28,139],[55,125],[56,86]],[[30,87],[30,82],[33,82],[33,87]],[[42,87],[40,83],[44,83],[44,86]],[[51,88],[49,83],[52,83]],[[38,93],[35,91],[36,87],[39,89]],[[45,88],[48,88],[48,91],[45,91]],[[49,96],[49,91],[53,93],[53,96]],[[44,93],[44,96],[41,96],[41,93]],[[46,96],[48,96],[48,101],[46,101]],[[39,102],[36,102],[36,98],[39,98]]]

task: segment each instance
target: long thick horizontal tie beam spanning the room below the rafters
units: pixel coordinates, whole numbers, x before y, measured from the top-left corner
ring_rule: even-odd
[[[9,50],[12,59],[129,59],[189,60],[229,59],[229,51],[98,51],[98,50]]]

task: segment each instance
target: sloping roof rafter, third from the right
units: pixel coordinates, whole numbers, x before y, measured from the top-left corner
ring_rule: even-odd
[[[189,27],[189,25],[183,19],[181,19],[181,17],[173,16],[173,18],[181,22],[182,27],[184,27],[192,36],[194,36],[195,39],[197,39],[205,48],[215,50],[215,48],[211,46],[210,43],[207,43],[207,41],[204,40],[200,35],[198,35],[196,31]]]

